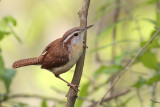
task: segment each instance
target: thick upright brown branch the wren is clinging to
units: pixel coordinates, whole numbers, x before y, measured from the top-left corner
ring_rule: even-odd
[[[88,16],[88,9],[90,5],[90,0],[84,0],[82,9],[79,11],[79,18],[80,18],[80,26],[85,27],[87,25],[87,16]],[[86,41],[86,32],[84,36],[84,41]],[[81,76],[82,76],[82,71],[83,71],[83,65],[84,65],[84,59],[85,59],[85,52],[86,50],[84,49],[82,56],[78,60],[74,72],[74,76],[72,79],[72,84],[79,85]],[[67,93],[67,103],[66,107],[74,107],[75,101],[77,98],[77,92],[75,92],[72,88],[69,89]]]

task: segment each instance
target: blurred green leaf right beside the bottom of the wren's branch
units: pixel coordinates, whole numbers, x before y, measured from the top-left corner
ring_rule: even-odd
[[[89,82],[87,82],[82,86],[81,91],[79,92],[79,96],[86,97],[88,95],[88,86],[89,86]],[[81,107],[81,105],[83,104],[83,101],[84,100],[78,99],[76,101],[75,107]]]

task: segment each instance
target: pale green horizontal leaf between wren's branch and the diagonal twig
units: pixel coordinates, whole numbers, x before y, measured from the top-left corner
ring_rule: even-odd
[[[122,66],[117,66],[117,65],[111,65],[111,66],[104,66],[102,65],[96,72],[94,73],[94,77],[100,75],[101,73],[107,74],[107,75],[112,75],[116,72],[120,72],[123,69]]]

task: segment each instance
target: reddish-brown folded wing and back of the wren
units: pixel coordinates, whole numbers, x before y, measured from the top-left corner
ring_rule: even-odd
[[[46,47],[41,68],[52,69],[65,65],[69,61],[67,48],[62,47],[60,39]]]

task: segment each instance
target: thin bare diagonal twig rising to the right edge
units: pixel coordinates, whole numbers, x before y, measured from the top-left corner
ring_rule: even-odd
[[[111,87],[109,88],[109,90],[105,93],[105,95],[103,96],[103,98],[97,103],[97,106],[100,105],[102,103],[102,101],[104,100],[104,98],[107,96],[107,94],[112,90],[112,88],[115,86],[115,84],[118,82],[118,80],[124,75],[124,73],[131,67],[131,65],[136,61],[136,59],[144,52],[144,50],[147,48],[147,46],[152,43],[153,39],[158,35],[158,33],[160,32],[160,28],[156,28],[158,31],[152,36],[152,38],[144,45],[143,48],[140,49],[140,51],[138,52],[138,54],[130,61],[130,63],[125,67],[125,69],[120,72],[120,74],[116,77],[114,83],[111,85]]]

